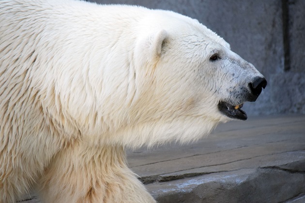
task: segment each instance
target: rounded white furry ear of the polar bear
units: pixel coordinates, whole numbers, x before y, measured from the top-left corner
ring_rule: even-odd
[[[137,60],[147,63],[158,59],[167,38],[167,31],[162,29],[140,39],[135,50]]]

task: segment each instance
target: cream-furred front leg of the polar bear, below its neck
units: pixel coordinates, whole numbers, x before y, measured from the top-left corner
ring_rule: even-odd
[[[155,203],[127,167],[121,146],[78,143],[63,149],[39,189],[44,203]]]

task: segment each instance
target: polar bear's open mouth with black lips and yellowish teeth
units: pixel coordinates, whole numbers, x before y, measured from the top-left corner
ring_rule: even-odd
[[[221,113],[228,116],[229,118],[246,120],[247,114],[241,109],[243,104],[232,105],[227,102],[219,102],[218,109]]]

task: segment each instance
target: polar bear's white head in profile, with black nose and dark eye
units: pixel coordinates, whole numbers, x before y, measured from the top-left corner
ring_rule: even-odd
[[[167,19],[137,42],[136,83],[142,93],[137,115],[178,129],[188,123],[189,129],[210,130],[220,121],[247,119],[241,107],[265,88],[263,75],[198,21],[180,15]]]

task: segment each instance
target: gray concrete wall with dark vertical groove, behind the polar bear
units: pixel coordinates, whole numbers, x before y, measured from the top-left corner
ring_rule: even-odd
[[[91,0],[172,10],[215,31],[265,75],[248,115],[305,114],[304,0]]]

